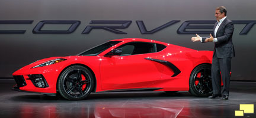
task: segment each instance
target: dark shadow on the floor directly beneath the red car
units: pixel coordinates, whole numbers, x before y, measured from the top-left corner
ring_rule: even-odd
[[[94,100],[155,100],[155,99],[195,99],[200,97],[192,96],[188,92],[178,92],[178,93],[165,93],[165,92],[119,92],[119,93],[92,93],[84,100],[76,101],[94,101]],[[46,96],[43,94],[31,94],[28,95],[15,95],[9,100],[13,101],[28,101],[28,102],[56,102],[56,101],[72,101],[63,99],[63,97],[57,96]]]

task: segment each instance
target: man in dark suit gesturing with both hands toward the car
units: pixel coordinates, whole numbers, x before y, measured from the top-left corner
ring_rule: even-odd
[[[226,8],[219,6],[215,10],[217,22],[213,28],[213,36],[210,37],[192,37],[191,41],[214,42],[215,48],[212,60],[212,86],[213,95],[209,99],[221,97],[222,100],[228,100],[229,80],[231,71],[231,58],[235,57],[235,50],[232,42],[233,22],[226,18]],[[221,74],[221,75],[220,75]],[[220,90],[221,77],[223,81],[222,91]]]

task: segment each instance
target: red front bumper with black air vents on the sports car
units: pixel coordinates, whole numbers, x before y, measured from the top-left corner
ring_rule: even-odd
[[[32,68],[34,65],[27,65],[15,71],[12,76],[19,90],[56,94],[57,78],[65,67],[63,64],[65,63],[37,68]]]

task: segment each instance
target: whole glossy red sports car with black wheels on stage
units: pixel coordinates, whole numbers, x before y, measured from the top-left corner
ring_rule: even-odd
[[[209,96],[212,55],[213,51],[154,40],[111,40],[78,55],[45,58],[15,71],[13,90],[59,93],[68,100],[110,91],[190,91]]]

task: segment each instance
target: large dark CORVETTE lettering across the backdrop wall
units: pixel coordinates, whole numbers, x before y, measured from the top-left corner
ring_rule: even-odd
[[[147,30],[143,21],[136,21],[141,34],[154,34],[164,28],[177,24],[180,20],[172,20],[164,25]],[[215,20],[188,20],[184,21],[177,30],[177,34],[210,34],[215,24]],[[33,20],[1,20],[1,24],[32,24]],[[245,24],[245,27],[239,33],[246,35],[256,23],[256,20],[233,20],[234,24]],[[68,30],[41,30],[45,24],[71,24]],[[43,20],[39,21],[33,29],[33,34],[70,34],[78,28],[81,21],[78,20]],[[130,20],[92,20],[90,25],[85,27],[82,34],[89,34],[92,30],[101,29],[113,32],[115,34],[127,34],[119,29],[126,29],[132,24]],[[117,25],[114,25],[117,24]],[[0,34],[24,34],[26,30],[0,30]]]

